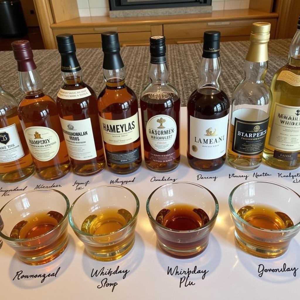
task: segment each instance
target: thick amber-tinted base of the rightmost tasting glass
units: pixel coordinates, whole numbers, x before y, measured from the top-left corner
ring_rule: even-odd
[[[283,253],[286,252],[287,248],[288,248],[288,244],[286,244],[286,247],[274,247],[272,245],[269,245],[267,242],[266,247],[262,247],[261,245],[254,245],[254,244],[250,244],[246,241],[243,241],[240,236],[237,234],[236,231],[234,231],[234,235],[235,235],[235,241],[238,244],[238,246],[244,250],[245,252],[253,255],[253,256],[257,256],[260,258],[274,258],[274,257],[278,257],[281,256]]]

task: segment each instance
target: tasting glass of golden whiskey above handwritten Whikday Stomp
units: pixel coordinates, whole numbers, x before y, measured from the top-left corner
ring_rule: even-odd
[[[101,261],[116,260],[134,245],[139,208],[137,195],[127,187],[103,185],[74,201],[69,223],[89,256]]]

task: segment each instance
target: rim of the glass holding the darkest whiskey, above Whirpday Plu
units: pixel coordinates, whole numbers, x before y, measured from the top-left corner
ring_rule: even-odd
[[[152,217],[152,214],[150,212],[150,208],[149,208],[149,204],[150,204],[150,200],[151,200],[151,197],[153,196],[153,194],[159,190],[160,188],[163,188],[163,187],[166,187],[168,185],[173,185],[173,184],[179,184],[179,183],[184,183],[184,184],[192,184],[192,185],[195,185],[196,187],[200,187],[206,191],[208,191],[208,193],[212,196],[212,198],[214,199],[214,203],[215,203],[215,211],[214,211],[214,214],[213,216],[211,217],[211,219],[209,219],[209,221],[207,223],[205,223],[205,225],[201,226],[201,227],[198,227],[196,229],[190,229],[190,230],[177,230],[177,229],[170,229],[164,225],[161,225],[160,223],[158,223],[158,221],[156,221],[153,217]],[[214,194],[208,190],[208,188],[204,187],[203,185],[200,185],[200,184],[197,184],[197,183],[194,183],[194,182],[188,182],[188,181],[178,181],[178,182],[170,182],[170,183],[166,183],[166,184],[163,184],[159,187],[157,187],[155,190],[152,191],[152,193],[149,195],[148,199],[147,199],[147,202],[146,202],[146,211],[147,211],[147,214],[148,214],[148,217],[149,219],[155,223],[155,225],[157,225],[158,227],[161,227],[162,229],[165,229],[167,231],[170,231],[170,232],[179,232],[179,233],[190,233],[190,232],[196,232],[196,231],[200,231],[202,229],[205,229],[207,228],[211,223],[214,222],[214,220],[216,219],[218,213],[219,213],[219,203],[217,201],[217,198],[216,196],[214,196]]]

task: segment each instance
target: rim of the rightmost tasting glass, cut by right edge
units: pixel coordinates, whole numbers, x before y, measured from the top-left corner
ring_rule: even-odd
[[[288,228],[283,228],[283,229],[265,229],[265,228],[261,228],[261,227],[257,227],[257,226],[254,226],[250,223],[248,223],[247,221],[245,221],[244,219],[242,219],[235,211],[235,209],[233,208],[232,206],[232,196],[234,194],[234,192],[238,189],[238,187],[240,187],[241,185],[244,185],[244,184],[249,184],[249,183],[267,183],[267,184],[274,184],[274,185],[277,185],[279,187],[282,187],[286,190],[289,190],[291,191],[292,193],[294,193],[295,195],[297,195],[300,199],[300,195],[298,193],[296,193],[294,190],[292,190],[291,188],[285,186],[285,185],[282,185],[282,184],[279,184],[279,183],[276,183],[276,182],[271,182],[271,181],[263,181],[263,180],[251,180],[251,181],[248,181],[248,182],[242,182],[240,184],[238,184],[236,187],[234,187],[232,189],[232,191],[230,192],[229,194],[229,197],[228,197],[228,203],[229,203],[229,209],[230,209],[230,212],[234,215],[234,217],[236,217],[241,223],[247,225],[247,226],[250,226],[252,228],[255,228],[255,229],[259,229],[259,230],[262,230],[262,231],[265,231],[265,232],[288,232],[288,231],[291,231],[292,229],[296,229],[300,226],[300,221],[298,223],[296,223],[295,225],[291,226],[291,227],[288,227]]]

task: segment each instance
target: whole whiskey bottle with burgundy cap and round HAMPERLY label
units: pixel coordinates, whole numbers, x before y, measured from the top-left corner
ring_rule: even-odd
[[[69,172],[70,160],[55,101],[43,93],[29,41],[15,41],[11,45],[24,93],[18,116],[35,170],[42,179],[58,179]]]

